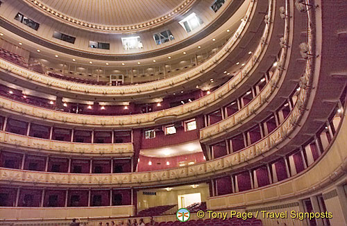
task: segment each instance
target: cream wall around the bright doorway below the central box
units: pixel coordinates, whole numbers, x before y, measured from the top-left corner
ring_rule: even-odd
[[[144,195],[142,193],[143,191],[156,192],[157,195]],[[208,186],[198,187],[196,189],[173,189],[171,191],[166,191],[165,189],[137,191],[137,211],[160,205],[178,205],[178,195],[189,193],[201,193],[202,202],[205,202],[210,196]]]

